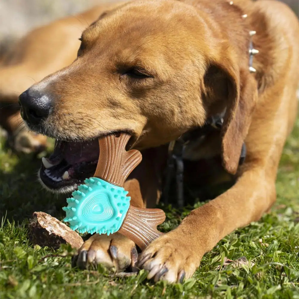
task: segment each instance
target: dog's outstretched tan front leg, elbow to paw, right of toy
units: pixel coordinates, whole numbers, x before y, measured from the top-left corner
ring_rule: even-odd
[[[276,197],[274,178],[268,178],[262,167],[243,169],[231,189],[193,210],[142,252],[138,266],[149,271],[149,279],[176,282],[190,277],[205,252],[234,229],[258,220],[271,206]]]

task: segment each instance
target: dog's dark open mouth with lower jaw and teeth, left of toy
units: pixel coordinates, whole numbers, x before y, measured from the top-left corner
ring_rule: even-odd
[[[70,191],[94,175],[98,158],[97,139],[85,142],[56,141],[53,154],[42,158],[39,176],[43,184],[53,191]]]

